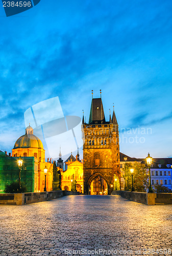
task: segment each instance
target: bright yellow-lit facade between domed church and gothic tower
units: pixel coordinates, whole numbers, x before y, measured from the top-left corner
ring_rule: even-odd
[[[83,161],[79,159],[79,153],[76,158],[71,154],[65,161],[65,167],[66,170],[61,173],[62,190],[71,191],[71,184],[76,181],[76,190],[83,193]]]

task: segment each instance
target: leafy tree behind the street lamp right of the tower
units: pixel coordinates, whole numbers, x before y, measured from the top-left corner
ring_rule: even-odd
[[[132,175],[130,169],[133,168],[133,186],[135,191],[144,192],[145,187],[149,186],[148,177],[146,167],[144,164],[139,162],[125,163],[124,166],[124,179],[125,179],[125,190],[132,189]]]

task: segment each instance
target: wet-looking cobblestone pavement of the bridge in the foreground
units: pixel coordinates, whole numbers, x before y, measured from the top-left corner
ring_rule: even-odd
[[[172,251],[172,205],[148,206],[120,196],[67,196],[23,206],[1,205],[0,224],[1,256],[171,255]]]

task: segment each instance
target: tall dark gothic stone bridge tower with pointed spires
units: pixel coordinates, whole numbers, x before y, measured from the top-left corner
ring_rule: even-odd
[[[109,122],[105,120],[102,98],[92,98],[89,123],[83,116],[82,135],[84,194],[104,190],[111,194],[114,179],[120,183],[119,134],[114,110],[112,119],[110,115]]]

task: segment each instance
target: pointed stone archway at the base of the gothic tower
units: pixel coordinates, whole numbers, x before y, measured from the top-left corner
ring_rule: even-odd
[[[108,181],[100,173],[95,173],[89,178],[87,187],[88,195],[108,195]]]

